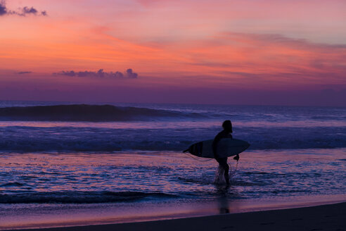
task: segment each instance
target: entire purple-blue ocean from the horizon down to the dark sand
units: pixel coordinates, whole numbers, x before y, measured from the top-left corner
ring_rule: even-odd
[[[224,120],[251,144],[229,187],[216,161],[182,153]],[[0,101],[3,230],[340,201],[345,169],[342,107]]]

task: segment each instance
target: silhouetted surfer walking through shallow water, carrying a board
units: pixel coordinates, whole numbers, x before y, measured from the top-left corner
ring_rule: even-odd
[[[226,180],[226,184],[229,185],[229,164],[227,163],[227,157],[217,156],[217,143],[223,138],[233,138],[231,135],[233,132],[231,120],[225,120],[224,123],[222,123],[222,127],[224,127],[224,130],[219,132],[212,142],[212,151],[215,160],[219,163],[220,167],[224,169],[224,180]],[[238,161],[239,155],[236,155],[234,159]]]

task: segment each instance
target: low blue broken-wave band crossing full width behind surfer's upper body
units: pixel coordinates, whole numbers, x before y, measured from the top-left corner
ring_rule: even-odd
[[[110,129],[96,127],[0,127],[0,151],[182,151],[212,139],[218,128]],[[243,127],[233,134],[259,149],[346,147],[346,127]]]

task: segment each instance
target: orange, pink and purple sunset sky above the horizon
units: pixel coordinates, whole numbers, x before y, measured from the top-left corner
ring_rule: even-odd
[[[346,106],[345,0],[0,0],[0,100]]]

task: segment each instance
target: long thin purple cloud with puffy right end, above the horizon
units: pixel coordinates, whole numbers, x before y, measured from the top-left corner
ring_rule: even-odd
[[[75,70],[68,70],[68,71],[60,71],[59,73],[53,73],[53,75],[66,75],[71,77],[109,77],[109,78],[127,78],[127,79],[136,79],[138,77],[137,73],[134,73],[132,69],[127,69],[125,73],[121,73],[119,71],[113,73],[109,72],[106,73],[103,71],[103,69],[100,69],[96,72],[94,71],[78,71]]]

